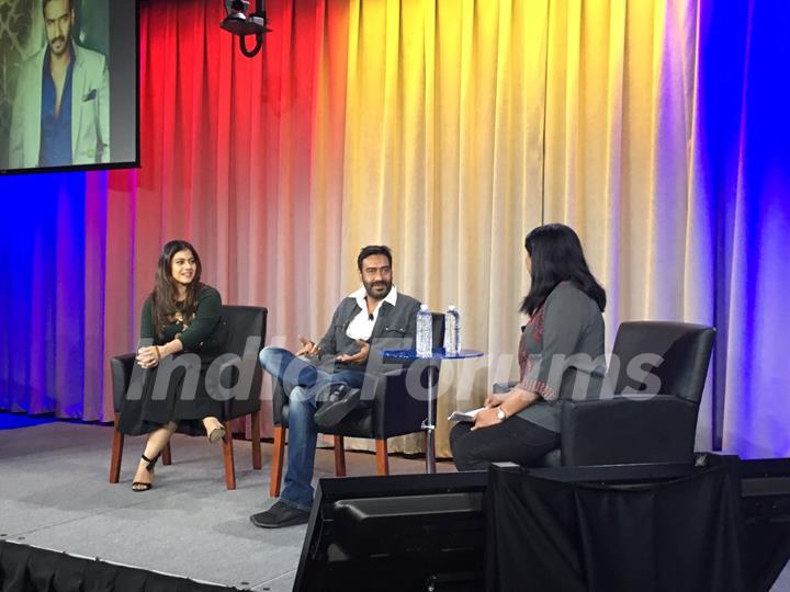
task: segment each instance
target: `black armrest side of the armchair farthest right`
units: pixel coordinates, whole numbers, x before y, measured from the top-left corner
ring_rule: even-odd
[[[565,466],[691,463],[698,406],[673,395],[565,401]]]

